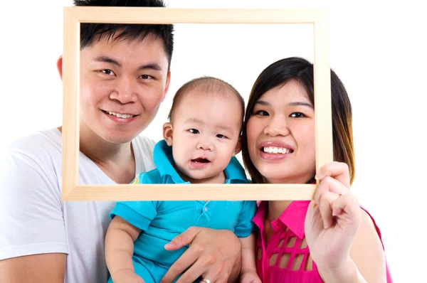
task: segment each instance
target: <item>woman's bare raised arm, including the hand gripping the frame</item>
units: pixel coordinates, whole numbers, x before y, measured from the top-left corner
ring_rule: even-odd
[[[322,166],[316,178],[320,183],[307,210],[305,237],[322,279],[386,282],[379,235],[350,191],[347,164]]]

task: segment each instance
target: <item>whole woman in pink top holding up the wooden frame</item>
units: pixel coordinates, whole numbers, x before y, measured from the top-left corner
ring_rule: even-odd
[[[313,201],[259,204],[257,269],[263,282],[391,282],[381,235],[350,192],[352,107],[331,72],[334,162],[315,171],[313,66],[286,58],[253,85],[242,153],[253,183],[315,183]]]

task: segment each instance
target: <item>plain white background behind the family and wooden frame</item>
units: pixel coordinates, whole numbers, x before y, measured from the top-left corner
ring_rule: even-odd
[[[357,175],[352,190],[383,234],[395,282],[424,282],[426,232],[426,23],[421,4],[396,1],[169,0],[181,8],[327,8],[330,65],[352,100]],[[6,6],[4,5],[6,4]],[[0,151],[14,139],[58,127],[63,6],[68,0],[1,6]],[[186,80],[214,75],[245,97],[261,70],[292,55],[313,59],[309,26],[177,25],[172,83],[155,122],[161,139],[172,95]]]

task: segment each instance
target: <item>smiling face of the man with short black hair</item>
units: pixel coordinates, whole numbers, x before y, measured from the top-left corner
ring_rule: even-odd
[[[161,38],[95,41],[80,52],[80,125],[112,144],[130,142],[154,119],[169,87]]]

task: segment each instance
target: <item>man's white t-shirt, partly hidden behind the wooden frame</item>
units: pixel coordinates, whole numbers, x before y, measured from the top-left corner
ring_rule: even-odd
[[[60,200],[61,144],[58,129],[13,142],[0,159],[0,260],[66,253],[65,283],[107,282],[104,240],[113,201]],[[155,142],[132,141],[136,171],[154,169]],[[80,153],[79,184],[112,184]]]

